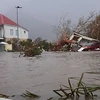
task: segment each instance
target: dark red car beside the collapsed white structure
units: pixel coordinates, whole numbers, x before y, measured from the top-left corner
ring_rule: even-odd
[[[78,51],[100,51],[100,42],[92,42],[81,47]]]

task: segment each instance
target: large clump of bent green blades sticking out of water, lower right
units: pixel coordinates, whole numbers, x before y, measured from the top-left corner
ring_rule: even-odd
[[[69,98],[74,98],[74,97],[78,97],[79,98],[80,95],[84,95],[85,99],[86,98],[91,98],[92,100],[94,100],[93,99],[93,97],[94,97],[93,92],[95,92],[97,90],[100,90],[100,86],[95,86],[95,87],[87,86],[82,81],[83,76],[84,76],[84,73],[82,73],[80,79],[78,80],[78,83],[77,83],[76,87],[73,87],[73,85],[71,83],[71,79],[74,79],[74,78],[68,78],[68,85],[69,86],[61,85],[59,90],[53,90],[53,91],[56,94],[58,94],[60,97],[64,97],[65,96],[65,100],[67,100]],[[64,87],[65,89],[63,89],[62,87]],[[60,94],[59,91],[63,92],[64,96],[62,94]]]

